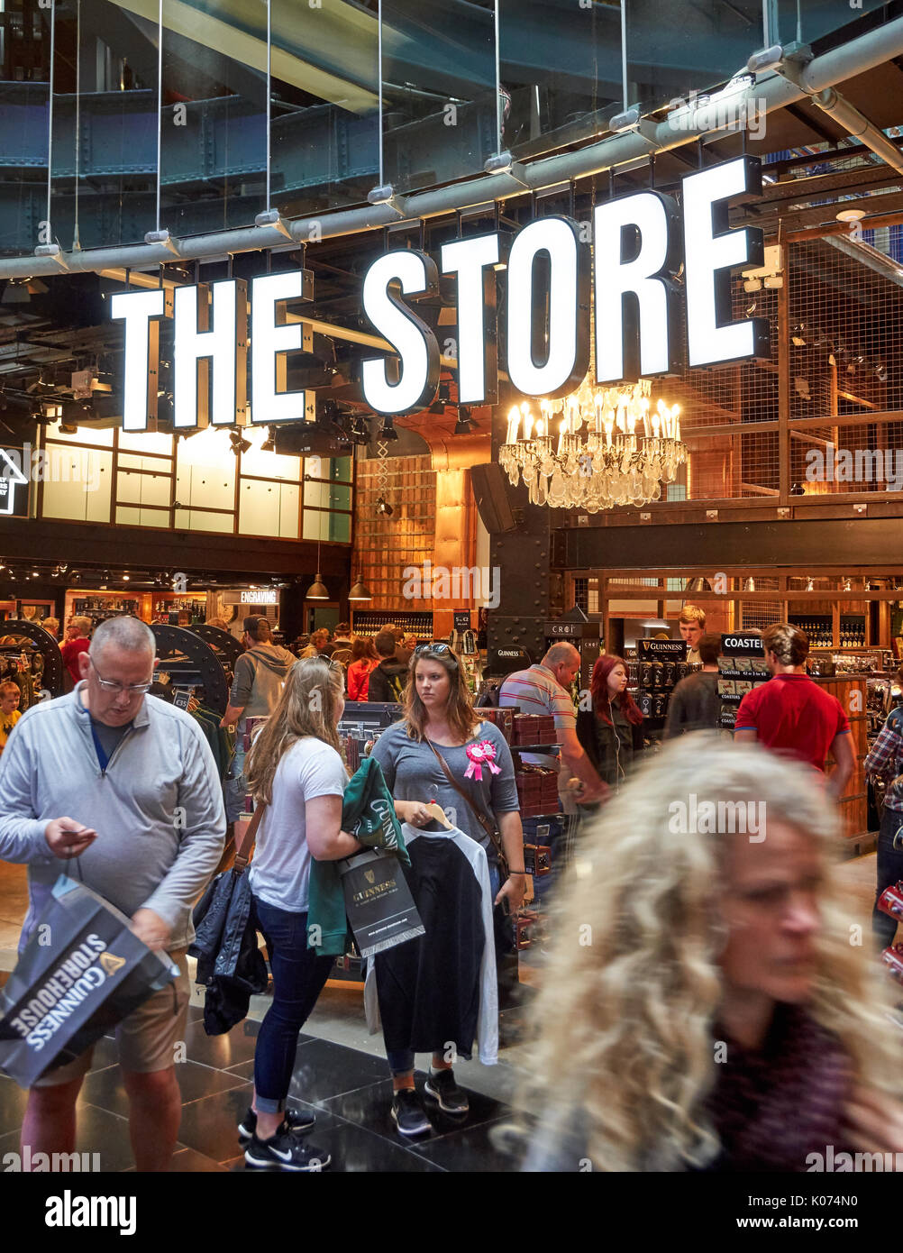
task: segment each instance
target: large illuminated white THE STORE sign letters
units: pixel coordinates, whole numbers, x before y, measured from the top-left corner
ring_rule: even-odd
[[[378,413],[403,415],[420,412],[435,400],[438,340],[411,304],[435,304],[440,274],[456,281],[461,403],[493,403],[500,368],[525,396],[564,396],[579,386],[590,358],[591,264],[599,385],[680,368],[681,298],[691,368],[769,356],[766,320],[734,321],[730,301],[731,269],[761,266],[764,243],[756,228],[729,229],[728,209],[758,195],[760,162],[738,157],[683,179],[683,214],[674,199],[651,190],[596,205],[592,248],[576,222],[545,217],[513,238],[493,232],[451,241],[440,249],[438,266],[417,249],[383,253],[364,274],[362,303],[373,331],[393,352],[362,361],[367,405]],[[507,289],[503,337],[496,304],[496,277],[502,268]],[[309,271],[266,274],[249,287],[224,279],[178,287],[174,293],[114,296],[113,317],[125,323],[125,430],[147,430],[155,415],[164,317],[174,320],[177,430],[243,424],[249,367],[253,422],[312,420],[313,392],[286,391],[287,356],[309,347],[309,327],[297,317],[289,320],[286,307],[312,298]]]

